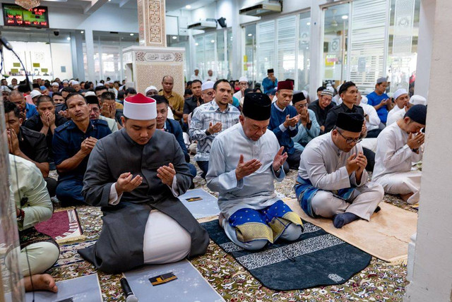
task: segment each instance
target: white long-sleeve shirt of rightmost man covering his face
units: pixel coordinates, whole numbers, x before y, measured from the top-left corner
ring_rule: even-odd
[[[392,123],[381,131],[376,140],[375,167],[372,180],[390,173],[408,172],[413,162],[422,159],[419,154],[412,152],[407,145],[408,133],[403,131],[397,123]]]

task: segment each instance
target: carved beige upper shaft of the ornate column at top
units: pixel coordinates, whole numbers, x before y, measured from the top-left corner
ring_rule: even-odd
[[[165,0],[137,0],[140,46],[166,47]]]

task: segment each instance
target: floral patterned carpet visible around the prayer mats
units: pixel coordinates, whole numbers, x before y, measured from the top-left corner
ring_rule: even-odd
[[[297,171],[290,171],[282,183],[275,184],[276,190],[287,197],[295,198],[292,186],[296,176]],[[196,188],[208,191],[206,181],[199,176],[194,179],[194,182]],[[395,196],[385,195],[384,202],[417,212]],[[84,234],[88,238],[83,242],[61,246],[60,258],[49,270],[49,274],[52,274],[57,281],[95,272],[93,265],[81,259],[77,249],[90,246],[95,242],[102,228],[100,219],[102,212],[99,208],[88,206],[77,207],[77,210]],[[407,267],[404,263],[387,263],[372,258],[366,269],[340,286],[322,286],[302,291],[272,291],[262,286],[213,241],[210,241],[207,253],[191,260],[191,263],[225,298],[225,301],[402,301],[405,286],[408,285],[405,279]],[[97,273],[100,277],[104,301],[125,301],[119,285],[121,276]]]

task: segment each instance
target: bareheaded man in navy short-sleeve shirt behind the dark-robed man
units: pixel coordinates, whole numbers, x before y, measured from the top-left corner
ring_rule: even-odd
[[[83,95],[70,93],[66,105],[71,121],[55,129],[52,142],[59,174],[57,198],[62,203],[82,203],[83,176],[90,152],[97,140],[112,131],[107,121],[90,120],[90,107]]]

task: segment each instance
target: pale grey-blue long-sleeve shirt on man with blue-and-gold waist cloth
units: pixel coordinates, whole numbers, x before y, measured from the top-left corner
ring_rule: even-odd
[[[279,174],[273,171],[273,159],[279,149],[278,139],[272,131],[267,130],[256,141],[250,140],[241,123],[213,140],[206,180],[210,190],[220,193],[218,207],[226,218],[244,207],[260,210],[278,201],[273,180],[283,181],[285,177],[283,169],[278,171]],[[262,167],[237,180],[235,169],[240,155],[244,156],[244,162],[258,159]]]

